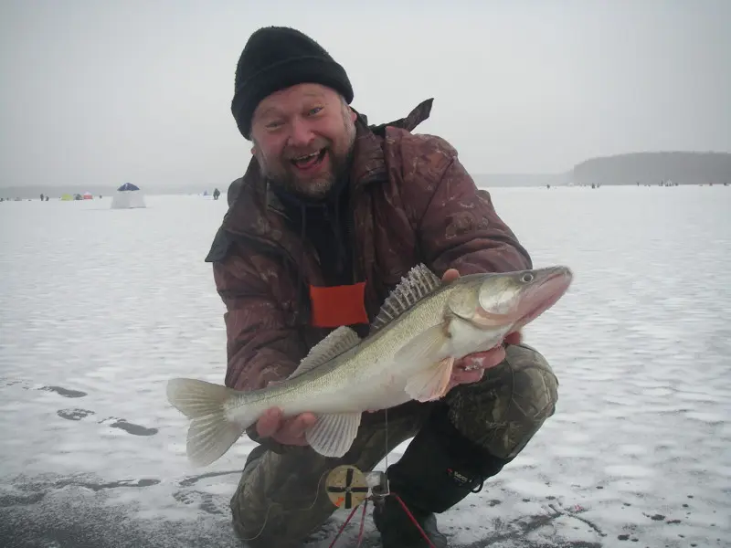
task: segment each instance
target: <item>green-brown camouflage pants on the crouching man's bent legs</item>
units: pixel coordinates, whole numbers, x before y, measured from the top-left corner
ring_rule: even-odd
[[[461,385],[445,397],[452,424],[472,442],[498,458],[514,458],[553,415],[558,382],[544,357],[525,345],[510,345],[502,364],[482,380]],[[335,507],[324,490],[331,469],[351,464],[369,471],[388,448],[416,436],[434,404],[409,402],[365,413],[352,448],[342,458],[326,458],[311,448],[280,454],[259,446],[231,499],[233,526],[251,547],[302,545]]]

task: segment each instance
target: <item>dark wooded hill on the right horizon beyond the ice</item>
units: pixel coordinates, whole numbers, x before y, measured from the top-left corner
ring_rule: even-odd
[[[731,153],[630,153],[577,164],[574,184],[731,183]]]

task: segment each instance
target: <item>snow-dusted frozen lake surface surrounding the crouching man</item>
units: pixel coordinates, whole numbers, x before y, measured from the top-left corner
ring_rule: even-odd
[[[525,332],[559,404],[440,528],[471,548],[731,545],[731,187],[491,192],[536,266],[575,271]],[[252,445],[193,469],[164,395],[173,376],[224,378],[203,259],[225,196],[110,201],[0,204],[0,545],[237,546]]]

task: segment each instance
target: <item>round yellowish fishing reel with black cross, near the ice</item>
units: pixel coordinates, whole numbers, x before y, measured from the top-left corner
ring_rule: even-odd
[[[350,464],[330,470],[325,490],[339,509],[355,508],[366,499],[383,499],[390,494],[386,472],[364,473]]]

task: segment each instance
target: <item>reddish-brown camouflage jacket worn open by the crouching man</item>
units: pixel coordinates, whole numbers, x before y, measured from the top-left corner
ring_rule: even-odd
[[[431,100],[407,118],[368,126],[359,114],[350,177],[355,279],[373,320],[419,262],[437,275],[531,268],[531,258],[439,137],[412,134]],[[228,337],[226,385],[266,386],[296,368],[330,330],[310,321],[309,286],[323,285],[317,253],[287,223],[251,159],[229,188],[229,208],[206,258],[213,263]]]

